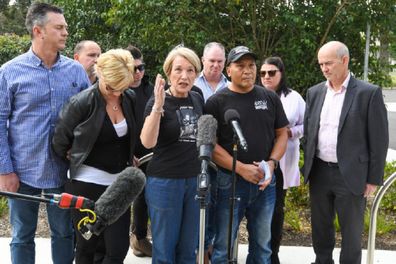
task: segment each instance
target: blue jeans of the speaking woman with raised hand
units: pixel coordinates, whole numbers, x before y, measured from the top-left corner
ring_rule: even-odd
[[[153,264],[195,264],[199,230],[197,178],[147,177]]]

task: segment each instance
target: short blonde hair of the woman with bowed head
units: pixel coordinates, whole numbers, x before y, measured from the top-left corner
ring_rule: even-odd
[[[129,51],[111,49],[99,56],[95,71],[112,89],[122,92],[133,82],[135,63]]]

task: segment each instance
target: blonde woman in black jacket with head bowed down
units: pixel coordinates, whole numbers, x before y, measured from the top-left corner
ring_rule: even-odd
[[[136,134],[134,61],[130,52],[109,50],[95,65],[98,76],[90,88],[72,97],[59,115],[52,145],[70,161],[66,192],[96,201],[133,161]],[[130,210],[99,235],[85,240],[78,231],[86,214],[72,211],[76,230],[76,264],[92,264],[98,245],[105,245],[100,263],[123,263],[129,248]],[[101,249],[102,250],[102,249]]]

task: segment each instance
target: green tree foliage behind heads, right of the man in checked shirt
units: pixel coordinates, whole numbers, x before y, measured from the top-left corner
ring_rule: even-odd
[[[26,1],[26,0],[25,0]],[[281,56],[290,86],[305,93],[323,80],[316,54],[330,40],[347,44],[351,71],[363,75],[365,32],[371,25],[371,82],[389,83],[389,57],[395,53],[394,0],[53,0],[69,24],[66,53],[83,39],[103,50],[132,43],[145,55],[147,72],[160,71],[166,54],[184,44],[202,54],[218,41],[229,51],[251,47],[260,61]],[[379,43],[381,45],[379,45]]]

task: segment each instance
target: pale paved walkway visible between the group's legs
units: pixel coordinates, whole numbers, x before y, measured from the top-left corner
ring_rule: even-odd
[[[11,264],[10,251],[8,244],[10,238],[0,238],[0,263]],[[51,264],[50,240],[48,238],[36,239],[36,263],[37,264]],[[280,261],[282,264],[309,264],[314,261],[314,252],[311,247],[286,247],[281,246],[279,252]],[[239,245],[238,263],[245,263],[247,255],[247,245]],[[338,264],[340,249],[334,251],[335,264]],[[125,264],[150,264],[151,258],[137,258],[129,250],[128,256],[125,259]],[[396,263],[396,249],[376,250],[374,255],[375,264],[394,264]],[[362,264],[366,264],[366,250],[363,251]]]

